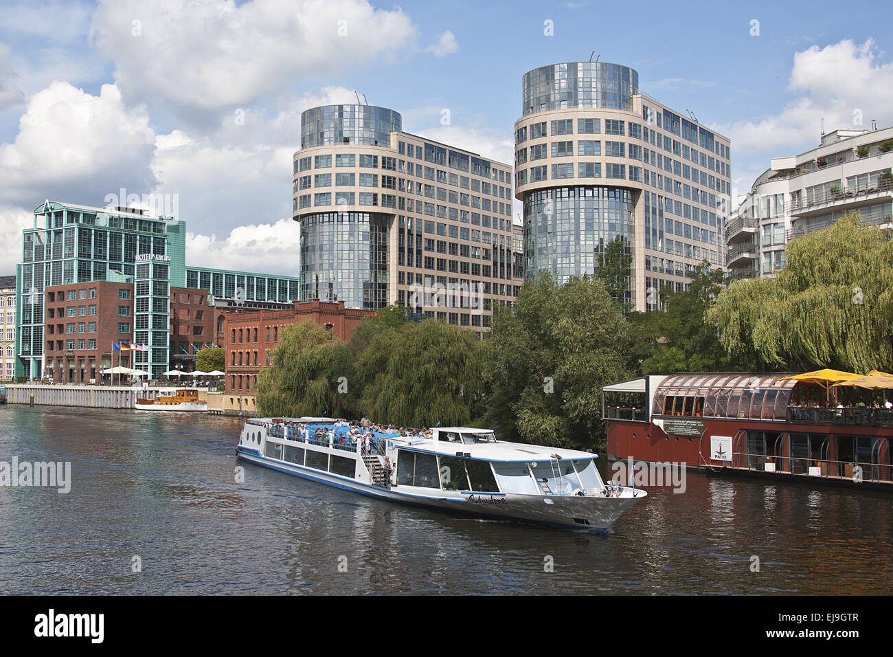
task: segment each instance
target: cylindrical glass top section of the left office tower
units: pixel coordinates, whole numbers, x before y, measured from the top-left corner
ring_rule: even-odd
[[[401,131],[400,114],[374,105],[322,105],[301,114],[301,147],[388,146],[388,134]]]

